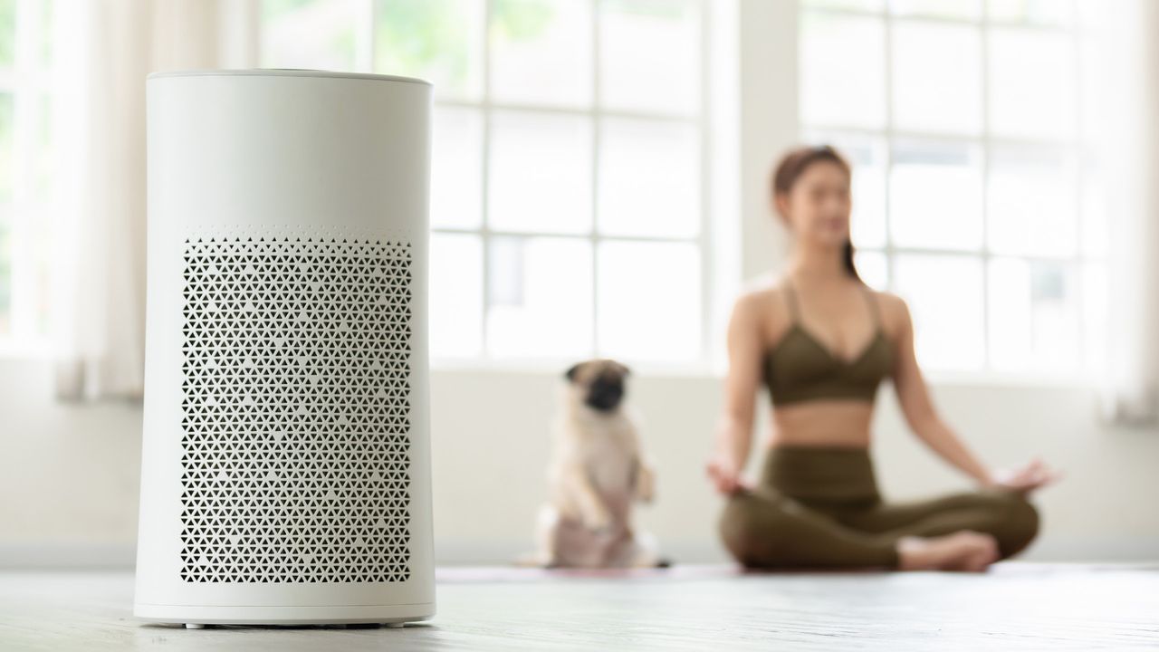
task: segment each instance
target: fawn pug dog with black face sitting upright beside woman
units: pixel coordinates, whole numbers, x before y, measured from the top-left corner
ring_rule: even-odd
[[[649,567],[670,562],[654,537],[632,523],[635,501],[655,499],[655,473],[641,450],[639,419],[625,403],[626,365],[608,358],[571,365],[563,375],[539,513],[535,559],[545,567]]]

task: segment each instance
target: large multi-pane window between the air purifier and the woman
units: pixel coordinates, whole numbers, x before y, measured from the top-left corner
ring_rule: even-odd
[[[702,363],[701,0],[265,0],[263,60],[435,84],[431,356]]]

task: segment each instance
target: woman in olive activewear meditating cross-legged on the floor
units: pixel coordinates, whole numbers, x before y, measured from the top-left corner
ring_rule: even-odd
[[[845,159],[829,146],[802,147],[772,181],[774,209],[795,242],[785,274],[741,296],[729,321],[726,411],[708,463],[728,497],[724,545],[748,567],[983,571],[1021,551],[1038,530],[1029,494],[1059,474],[1038,459],[992,474],[940,419],[905,302],[872,290],[853,266]],[[882,500],[869,426],[887,376],[917,436],[978,488]],[[774,427],[751,486],[741,472],[761,383]]]

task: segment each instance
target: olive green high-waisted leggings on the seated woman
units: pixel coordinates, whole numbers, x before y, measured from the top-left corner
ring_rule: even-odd
[[[958,530],[993,535],[1003,559],[1038,531],[1038,512],[1003,487],[883,501],[863,448],[774,445],[760,483],[731,494],[720,536],[748,567],[898,567],[897,539]]]

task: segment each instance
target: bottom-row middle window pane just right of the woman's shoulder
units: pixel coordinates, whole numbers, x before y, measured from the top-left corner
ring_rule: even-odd
[[[919,363],[936,369],[982,369],[982,261],[898,254],[894,270],[896,291],[913,317]]]

